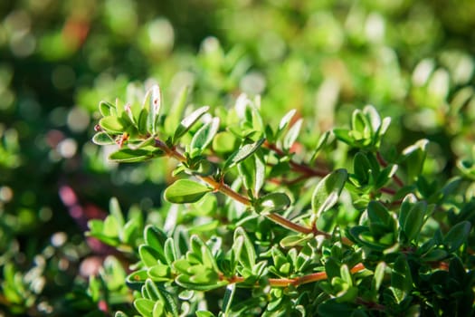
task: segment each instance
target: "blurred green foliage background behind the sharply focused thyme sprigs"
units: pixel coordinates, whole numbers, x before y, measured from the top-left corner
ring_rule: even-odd
[[[90,142],[98,102],[138,101],[144,82],[168,105],[184,85],[212,107],[261,94],[265,120],[297,109],[309,138],[373,104],[398,149],[428,138],[427,172],[450,175],[474,159],[474,13],[472,0],[2,1],[0,276],[41,267],[19,301],[63,312],[80,265],[109,252],[84,239],[87,219],[110,197],[160,204],[168,163],[117,166]]]

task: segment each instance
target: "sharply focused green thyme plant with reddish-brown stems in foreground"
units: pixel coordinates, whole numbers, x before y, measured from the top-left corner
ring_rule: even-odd
[[[427,139],[386,144],[391,118],[372,106],[315,135],[296,110],[268,124],[259,97],[195,107],[188,94],[168,104],[153,85],[141,104],[100,102],[93,141],[110,160],[171,167],[153,219],[114,198],[89,223],[129,265],[133,298],[92,283],[133,302],[116,316],[473,314],[470,178],[424,177]]]

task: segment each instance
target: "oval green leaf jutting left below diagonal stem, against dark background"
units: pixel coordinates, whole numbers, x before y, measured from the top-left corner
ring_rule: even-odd
[[[165,189],[165,199],[175,204],[195,203],[210,191],[211,188],[193,180],[178,179]]]

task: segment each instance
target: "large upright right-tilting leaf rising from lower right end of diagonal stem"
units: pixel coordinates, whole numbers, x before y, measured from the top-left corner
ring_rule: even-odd
[[[337,204],[346,181],[347,170],[339,168],[318,182],[311,201],[312,210],[316,216],[320,216]]]

